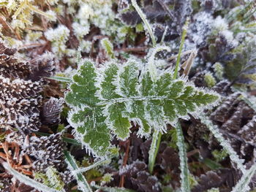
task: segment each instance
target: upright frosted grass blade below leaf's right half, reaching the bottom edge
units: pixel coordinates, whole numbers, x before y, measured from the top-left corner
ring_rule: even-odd
[[[184,137],[181,129],[181,124],[178,122],[176,126],[177,143],[178,146],[178,156],[180,159],[180,169],[181,169],[181,191],[189,192],[189,166],[187,164],[187,150],[184,142]]]

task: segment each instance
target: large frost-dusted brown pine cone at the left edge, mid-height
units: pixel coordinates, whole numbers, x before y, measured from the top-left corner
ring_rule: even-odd
[[[18,128],[27,134],[37,131],[39,107],[42,97],[39,82],[15,79],[0,75],[0,124],[1,128]]]

